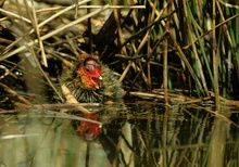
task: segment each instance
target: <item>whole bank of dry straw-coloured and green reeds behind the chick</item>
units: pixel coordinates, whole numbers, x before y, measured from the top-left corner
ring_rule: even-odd
[[[51,87],[63,101],[59,64],[87,52],[121,75],[126,94],[160,90],[169,104],[168,90],[187,90],[218,111],[222,99],[238,98],[238,8],[236,0],[3,0],[1,80],[17,72],[28,90]]]

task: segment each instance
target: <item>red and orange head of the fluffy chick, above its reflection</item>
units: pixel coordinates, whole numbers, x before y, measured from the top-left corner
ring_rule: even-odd
[[[99,89],[101,77],[101,66],[93,57],[83,59],[76,70],[81,80],[83,89]]]

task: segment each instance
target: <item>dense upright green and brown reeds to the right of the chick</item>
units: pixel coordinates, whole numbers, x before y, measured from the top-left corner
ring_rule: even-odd
[[[127,65],[138,67],[140,75],[136,77],[142,78],[147,91],[162,85],[167,102],[167,89],[197,90],[199,97],[215,95],[216,106],[219,97],[237,98],[239,15],[236,1],[139,1],[139,4],[146,9],[134,10],[133,35],[118,42],[115,52],[124,54],[125,61],[130,60]],[[156,65],[163,66],[161,72],[154,70]],[[178,80],[185,87],[174,85]]]

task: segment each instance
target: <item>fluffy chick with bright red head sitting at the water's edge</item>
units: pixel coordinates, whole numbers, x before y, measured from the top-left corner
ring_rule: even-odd
[[[64,65],[60,80],[80,103],[118,101],[124,94],[115,72],[88,53],[80,54],[72,65]]]

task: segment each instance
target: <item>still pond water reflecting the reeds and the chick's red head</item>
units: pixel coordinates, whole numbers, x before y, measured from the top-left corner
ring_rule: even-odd
[[[238,112],[216,115],[211,107],[149,101],[95,106],[87,118],[102,126],[46,111],[1,114],[0,166],[237,167]]]

